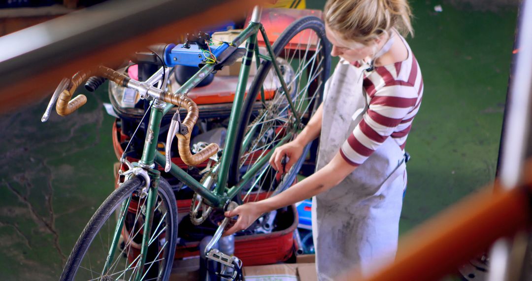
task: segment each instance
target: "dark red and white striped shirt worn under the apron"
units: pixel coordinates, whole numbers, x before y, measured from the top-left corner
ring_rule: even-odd
[[[403,42],[408,59],[364,73],[368,110],[340,148],[340,154],[353,166],[362,164],[388,137],[404,150],[421,104],[423,79],[410,47]]]

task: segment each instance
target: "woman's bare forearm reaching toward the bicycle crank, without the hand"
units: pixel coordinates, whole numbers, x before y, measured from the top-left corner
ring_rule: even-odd
[[[262,212],[271,212],[284,206],[308,199],[338,185],[355,167],[351,166],[338,153],[332,161],[322,169],[313,173],[269,199],[257,202]]]

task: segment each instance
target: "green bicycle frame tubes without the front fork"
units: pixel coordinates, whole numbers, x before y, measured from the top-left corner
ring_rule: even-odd
[[[265,45],[268,50],[269,56],[263,56],[259,55],[257,53],[258,46],[257,46],[257,34],[259,32],[262,32],[263,38],[266,38]],[[170,168],[170,174],[179,180],[181,180],[185,185],[193,189],[194,192],[196,192],[198,195],[202,196],[203,199],[206,201],[207,204],[213,206],[214,208],[223,208],[225,204],[228,202],[228,200],[232,199],[239,191],[242,189],[243,186],[245,186],[249,181],[252,179],[252,175],[254,175],[260,168],[264,167],[264,165],[267,163],[269,156],[273,153],[273,148],[269,153],[264,155],[264,157],[254,163],[253,167],[248,169],[248,171],[245,173],[245,175],[242,177],[242,179],[239,181],[239,183],[235,186],[232,186],[230,188],[227,187],[227,178],[229,173],[229,164],[231,162],[232,156],[235,153],[235,144],[236,142],[236,134],[237,129],[240,126],[240,122],[242,120],[242,106],[246,94],[246,88],[247,88],[247,80],[250,73],[250,67],[252,64],[252,57],[255,55],[256,57],[260,56],[264,59],[267,59],[268,61],[271,61],[273,64],[273,67],[276,69],[276,74],[279,80],[281,81],[281,85],[284,89],[284,94],[287,95],[288,101],[289,101],[289,109],[295,113],[296,110],[294,108],[294,104],[292,103],[291,99],[289,98],[286,82],[284,81],[284,77],[282,77],[282,73],[280,72],[279,66],[277,64],[277,61],[273,59],[274,53],[273,48],[270,45],[270,42],[267,40],[268,37],[265,35],[264,29],[262,28],[261,23],[256,22],[250,22],[250,25],[240,33],[237,38],[235,38],[231,45],[233,46],[239,46],[246,40],[246,53],[242,60],[242,67],[240,67],[240,73],[238,76],[238,84],[235,92],[235,98],[232,104],[231,108],[231,114],[229,117],[229,126],[227,129],[227,137],[226,137],[226,144],[223,148],[223,154],[222,159],[220,163],[220,170],[218,172],[218,180],[217,185],[214,189],[214,191],[210,191],[209,189],[205,188],[202,184],[200,184],[197,180],[195,180],[192,176],[188,175],[188,173],[181,168],[179,168],[176,164],[171,163]],[[177,90],[178,93],[187,93],[188,90],[192,89],[197,83],[201,81],[200,77],[206,77],[207,74],[212,72],[213,67],[212,65],[205,65],[200,71],[196,73],[192,78],[190,78],[181,88]],[[261,100],[263,101],[263,94],[261,89]],[[159,132],[159,126],[162,119],[162,116],[169,112],[170,109],[172,109],[173,105],[167,105],[166,108],[163,110],[160,109],[152,109],[152,113],[150,116],[150,122],[149,122],[149,130],[157,131]],[[159,113],[160,112],[160,113]],[[152,117],[153,116],[153,117]],[[297,114],[294,114],[296,118],[296,126],[301,122],[300,117]],[[280,140],[280,142],[276,145],[280,146],[286,142],[292,137],[291,134],[286,135],[284,138]],[[249,143],[250,138],[247,137],[244,140],[244,144]],[[152,147],[153,146],[153,147]],[[275,147],[274,147],[275,148]],[[146,139],[146,143],[144,146],[144,152],[143,152],[143,160],[142,163],[144,165],[150,165],[153,163],[152,155],[155,154],[155,162],[157,164],[160,164],[161,166],[164,166],[165,164],[165,158],[161,153],[157,153],[155,150],[155,144],[149,143],[148,139]]]

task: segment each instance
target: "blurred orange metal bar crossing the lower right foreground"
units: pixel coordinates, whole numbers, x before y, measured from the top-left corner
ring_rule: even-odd
[[[437,280],[488,249],[497,238],[525,229],[532,210],[531,164],[526,165],[523,186],[503,191],[496,181],[401,238],[395,262],[367,280]],[[352,270],[337,279],[359,277]]]

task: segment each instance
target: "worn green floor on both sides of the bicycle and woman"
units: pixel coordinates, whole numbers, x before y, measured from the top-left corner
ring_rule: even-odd
[[[516,7],[411,2],[416,33],[408,41],[425,97],[406,146],[412,160],[401,233],[493,180],[517,14]],[[438,4],[442,13],[434,12]],[[0,115],[3,280],[57,279],[112,191],[113,118],[102,108],[106,93],[88,100],[72,116],[54,113],[47,123],[40,117],[48,101]]]

